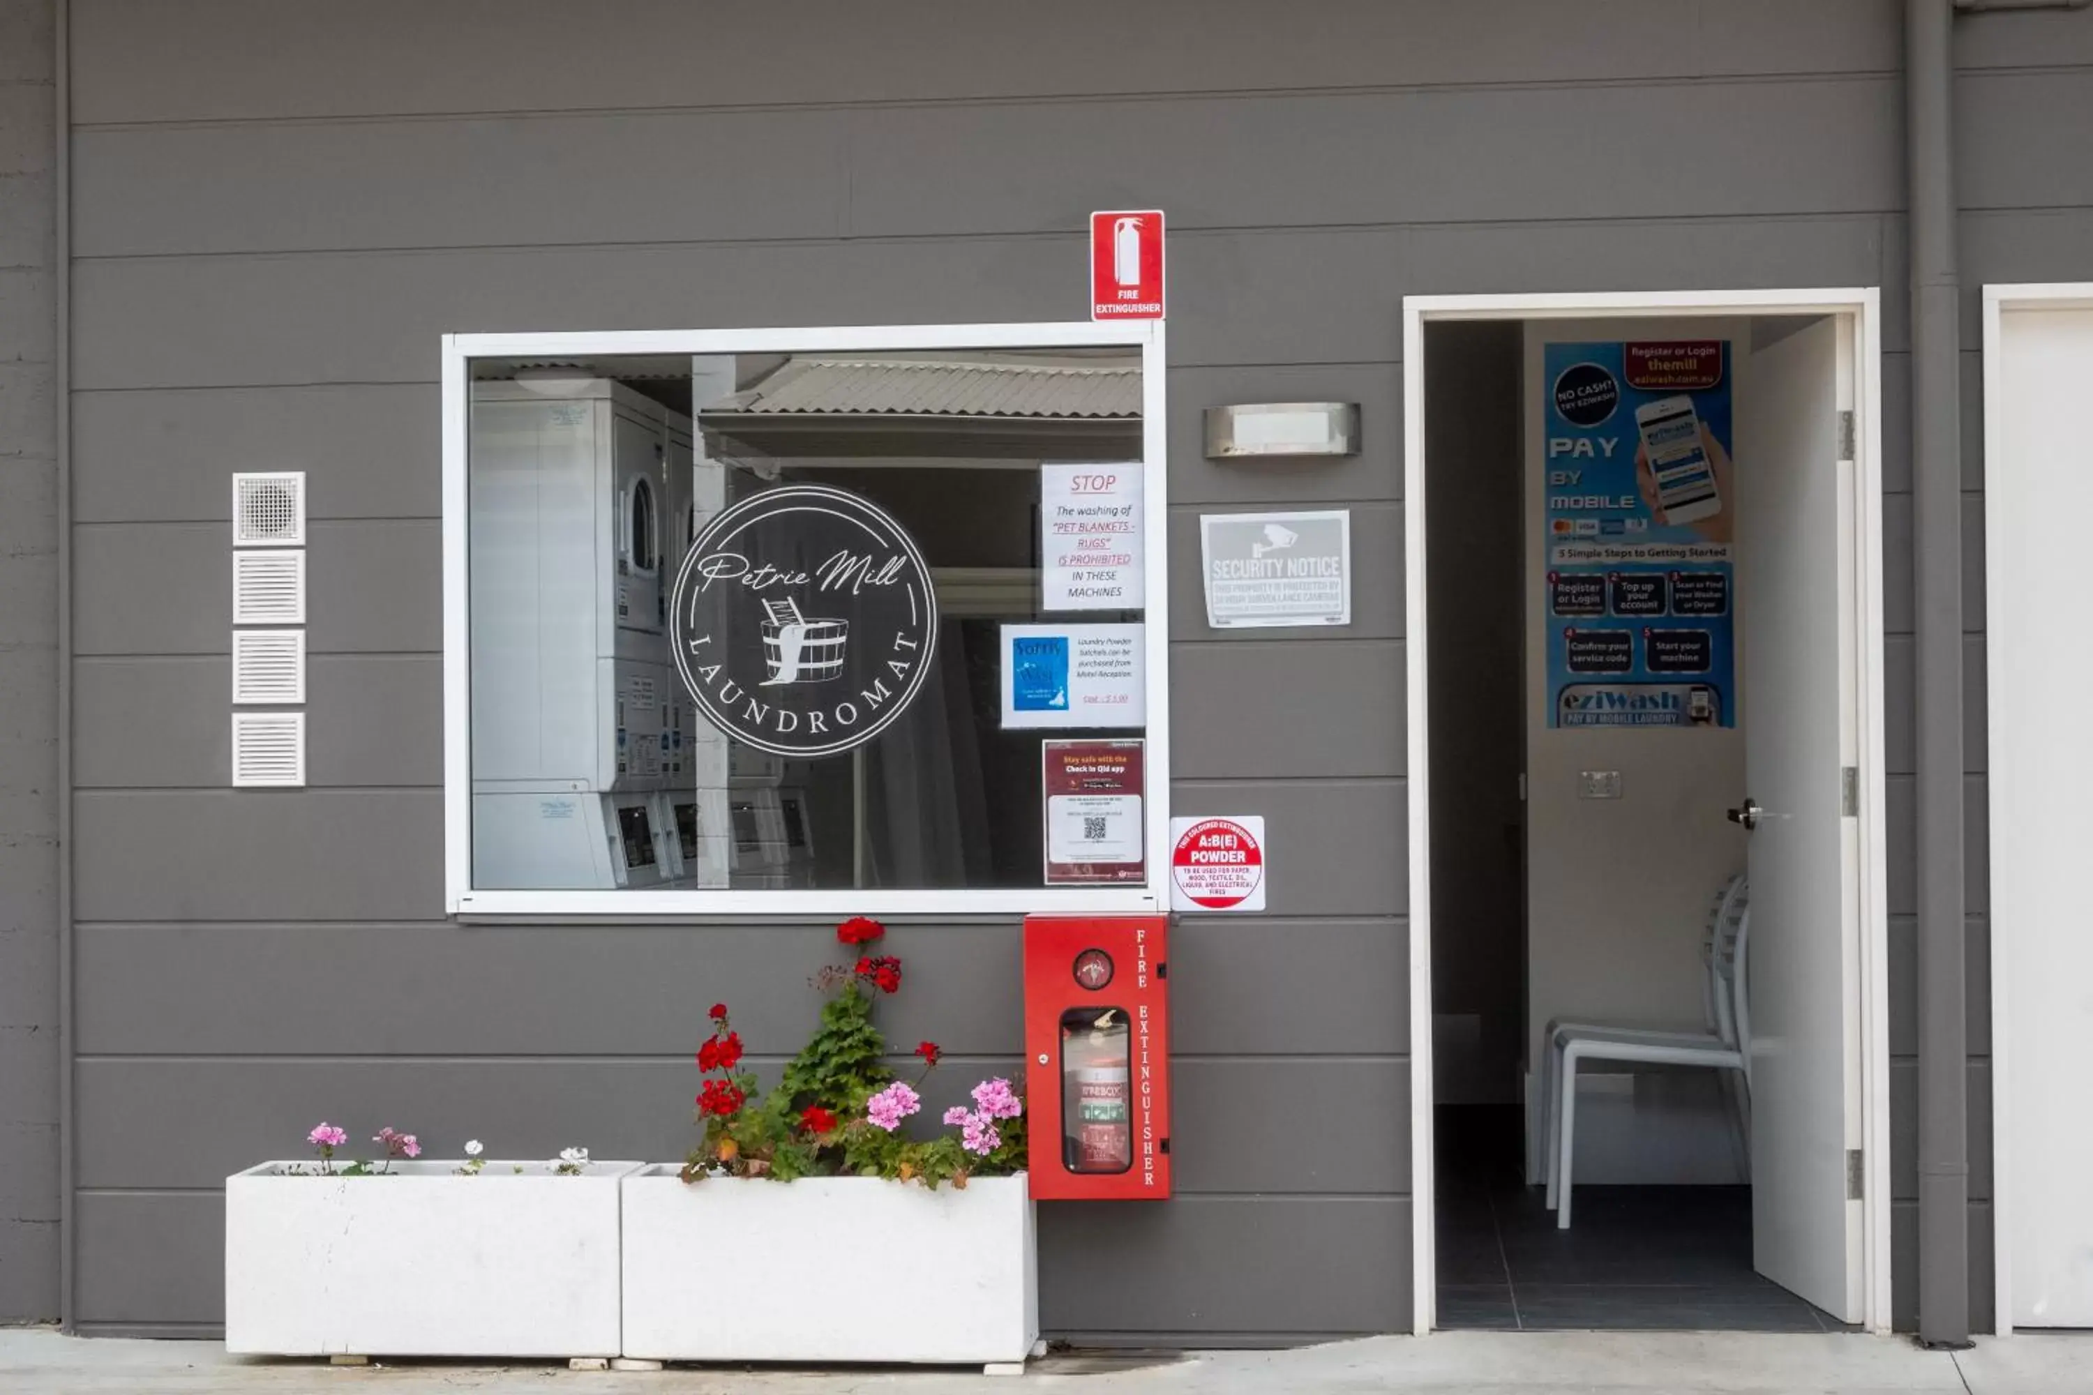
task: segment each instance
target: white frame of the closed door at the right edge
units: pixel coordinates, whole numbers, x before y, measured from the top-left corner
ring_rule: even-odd
[[[2003,282],[1984,287],[1984,491],[1990,494],[1993,471],[2003,466],[2005,460],[2005,418],[1995,406],[2005,393],[2005,314],[2009,310],[2093,310],[2093,280],[2064,280],[2064,282]],[[2005,517],[2001,510],[1984,510],[1984,594],[2003,596],[2001,581],[1997,575],[1999,558],[2005,556],[2001,548],[2016,546],[2016,540],[2005,535]],[[1990,615],[1984,615],[1984,642],[1986,646],[1999,644],[1997,630],[1993,627]],[[1997,650],[1993,650],[1997,653]],[[1984,684],[1988,688],[1986,713],[2005,711],[2001,684],[2005,682],[2003,665],[1986,665]],[[1986,715],[1986,722],[1995,717]],[[1997,799],[1997,772],[1988,776],[1990,795]],[[1997,807],[1997,805],[1995,805]],[[2005,973],[1999,966],[1999,922],[1997,922],[1997,901],[1999,901],[1999,881],[2001,870],[2005,878],[2013,876],[2018,866],[2018,849],[2013,841],[2005,837],[2005,820],[1990,820],[1990,845],[1986,849],[1993,883],[1993,922],[1990,922],[1990,1234],[1993,1234],[1993,1332],[1997,1336],[2013,1334],[2013,1234],[2007,1226],[2011,1217],[2011,1188],[2007,1186],[2007,1119],[2013,1108],[2011,1071],[2009,1071],[2009,1044],[2005,1033],[1999,1031],[1999,1023],[2007,1016],[2007,983]]]

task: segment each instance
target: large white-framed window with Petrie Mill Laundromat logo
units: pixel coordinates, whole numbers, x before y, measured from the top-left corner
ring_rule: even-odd
[[[1160,356],[448,339],[452,910],[1164,904]]]

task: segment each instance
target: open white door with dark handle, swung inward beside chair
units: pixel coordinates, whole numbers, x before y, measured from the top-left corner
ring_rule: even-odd
[[[1752,1257],[1783,1288],[1861,1322],[1863,1213],[1848,1196],[1861,857],[1844,776],[1856,765],[1854,466],[1840,460],[1850,452],[1838,429],[1854,356],[1846,324],[1823,318],[1737,358]]]

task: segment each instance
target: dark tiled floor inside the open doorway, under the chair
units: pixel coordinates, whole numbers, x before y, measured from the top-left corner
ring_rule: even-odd
[[[1515,1108],[1444,1106],[1436,1134],[1442,1328],[1842,1330],[1752,1272],[1748,1186],[1580,1186],[1555,1230]]]

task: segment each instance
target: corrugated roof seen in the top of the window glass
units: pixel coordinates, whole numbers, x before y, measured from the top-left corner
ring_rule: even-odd
[[[701,412],[707,422],[808,414],[1139,420],[1141,368],[793,358],[756,387]]]

